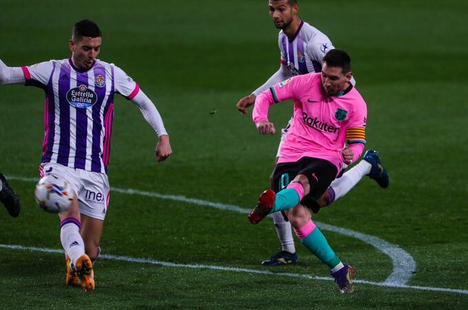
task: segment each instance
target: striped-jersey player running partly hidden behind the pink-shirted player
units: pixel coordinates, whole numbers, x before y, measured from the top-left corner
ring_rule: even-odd
[[[299,7],[296,0],[270,0],[268,6],[275,27],[280,29],[278,45],[281,52],[281,64],[279,70],[270,76],[264,85],[258,87],[249,96],[240,99],[237,103],[237,110],[242,114],[246,113],[246,108],[253,105],[255,98],[267,90],[268,87],[292,76],[321,72],[323,56],[334,48],[326,34],[306,23],[306,21],[299,19],[297,16]],[[354,79],[351,79],[351,83],[354,85]],[[288,125],[281,130],[277,158],[281,155],[281,147],[291,123],[292,118]],[[381,165],[379,155],[372,149],[369,149],[363,160],[354,167],[346,172],[344,172],[344,169],[345,166],[339,177],[332,182],[321,197],[314,199],[308,195],[304,198],[303,203],[310,207],[314,213],[317,213],[321,207],[326,207],[347,194],[366,175],[376,180],[379,186],[388,187],[388,174]],[[288,182],[289,180],[286,179],[281,180],[281,187],[286,187]],[[278,186],[273,184],[273,174],[270,177],[270,183],[272,189]],[[264,260],[262,265],[277,266],[296,263],[298,258],[290,223],[284,218],[282,212],[272,214],[272,217],[281,242],[281,251],[270,259]]]

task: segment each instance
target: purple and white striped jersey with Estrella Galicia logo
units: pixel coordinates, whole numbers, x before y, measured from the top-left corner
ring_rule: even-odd
[[[71,59],[22,67],[25,85],[45,92],[42,163],[107,173],[114,94],[131,100],[140,87],[113,63],[96,60],[89,70]]]

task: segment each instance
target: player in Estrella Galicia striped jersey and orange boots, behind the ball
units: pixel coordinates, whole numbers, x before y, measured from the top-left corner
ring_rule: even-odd
[[[102,34],[87,19],[72,30],[69,59],[28,67],[8,67],[0,60],[0,84],[25,84],[45,92],[41,178],[65,178],[74,192],[70,209],[58,214],[67,258],[66,284],[94,289],[93,262],[109,204],[107,165],[114,119],[114,94],[134,103],[158,135],[155,157],[172,154],[162,118],[138,84],[113,63],[97,59]]]

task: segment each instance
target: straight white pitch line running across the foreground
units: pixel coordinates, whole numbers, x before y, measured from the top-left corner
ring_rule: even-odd
[[[36,252],[63,254],[63,250],[61,249],[49,249],[46,247],[23,247],[21,245],[0,245],[0,248],[12,249],[12,250],[18,250],[18,251],[36,251]],[[255,273],[255,274],[262,274],[262,275],[267,275],[267,276],[305,278],[309,280],[325,280],[325,281],[333,280],[333,278],[329,278],[329,277],[310,276],[307,274],[299,274],[299,273],[272,272],[272,271],[267,271],[267,270],[245,269],[245,268],[236,268],[236,267],[222,267],[222,266],[213,266],[213,265],[175,264],[173,262],[162,262],[160,260],[151,260],[149,258],[131,258],[128,256],[117,256],[117,255],[109,255],[109,254],[100,255],[99,259],[118,260],[118,261],[123,261],[123,262],[136,262],[136,263],[141,263],[141,264],[159,265],[163,267],[209,269],[209,270],[215,270],[215,271],[231,271],[231,272],[237,272],[237,273]],[[377,287],[394,287],[398,289],[416,289],[419,291],[440,291],[440,292],[459,293],[459,294],[468,295],[468,290],[465,290],[465,289],[446,289],[443,287],[420,287],[416,285],[399,285],[396,283],[372,282],[372,281],[366,281],[366,280],[353,280],[353,282],[361,283],[364,285],[374,285]]]

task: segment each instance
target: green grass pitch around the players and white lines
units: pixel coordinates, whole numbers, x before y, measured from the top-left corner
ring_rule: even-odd
[[[61,254],[0,246],[5,309],[462,309],[468,304],[468,4],[466,1],[299,1],[299,17],[352,57],[368,103],[368,147],[390,172],[387,190],[364,178],[315,220],[378,237],[416,262],[407,285],[381,287],[392,260],[367,242],[323,230],[356,269],[352,296],[296,243],[300,263],[266,269],[279,249],[270,219],[174,195],[250,209],[268,187],[279,141],[259,136],[235,103],[279,67],[268,1],[0,1],[0,59],[11,66],[70,56],[72,24],[103,30],[100,59],[132,76],[162,114],[173,156],[156,163],[156,137],[116,97],[103,254],[96,290],[65,287]],[[210,112],[216,110],[214,114]],[[270,116],[284,126],[292,105]],[[17,219],[0,209],[0,245],[61,249],[58,218],[34,203],[43,139],[43,92],[0,87],[0,172],[21,196]],[[153,193],[127,194],[125,189]],[[297,239],[296,239],[297,240]],[[254,269],[189,268],[187,265]],[[237,270],[237,271],[236,271]],[[299,275],[268,275],[266,272]],[[304,278],[308,275],[319,278]],[[458,289],[425,291],[417,287]],[[464,293],[463,293],[464,292]]]

